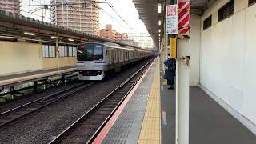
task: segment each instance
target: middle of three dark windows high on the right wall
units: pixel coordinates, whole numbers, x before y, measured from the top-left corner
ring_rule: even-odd
[[[222,6],[218,10],[218,22],[222,21],[225,18],[229,18],[234,14],[234,0],[227,2],[226,5]]]

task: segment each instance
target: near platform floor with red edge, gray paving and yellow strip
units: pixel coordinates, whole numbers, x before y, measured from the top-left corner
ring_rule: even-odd
[[[175,90],[163,82],[159,58],[93,143],[174,144]],[[256,136],[199,87],[190,87],[190,144],[255,144]]]

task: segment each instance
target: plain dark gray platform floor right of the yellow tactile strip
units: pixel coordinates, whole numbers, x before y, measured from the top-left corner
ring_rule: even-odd
[[[161,90],[162,143],[175,144],[175,90]],[[190,87],[190,144],[256,144],[256,136],[198,87]]]

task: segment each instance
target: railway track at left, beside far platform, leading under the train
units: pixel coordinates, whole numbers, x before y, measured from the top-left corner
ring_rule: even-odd
[[[45,106],[66,98],[74,93],[77,93],[80,90],[85,89],[88,86],[93,85],[94,82],[82,82],[78,85],[71,86],[65,90],[49,94],[44,98],[38,98],[32,102],[28,102],[22,106],[15,107],[14,109],[7,110],[0,114],[0,129],[11,122],[17,122],[20,118],[23,118],[27,114],[31,114],[37,110],[42,109]]]

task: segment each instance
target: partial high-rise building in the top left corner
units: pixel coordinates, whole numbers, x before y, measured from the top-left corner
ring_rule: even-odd
[[[0,10],[19,14],[20,7],[20,0],[0,0]]]

